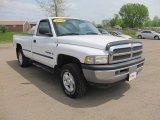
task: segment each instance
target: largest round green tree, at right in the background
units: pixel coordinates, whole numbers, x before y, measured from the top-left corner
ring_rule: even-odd
[[[142,27],[149,17],[148,8],[143,4],[126,4],[122,6],[119,14],[125,27]]]

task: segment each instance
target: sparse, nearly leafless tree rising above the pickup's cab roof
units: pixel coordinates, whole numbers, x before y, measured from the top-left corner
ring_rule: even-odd
[[[48,16],[60,17],[64,16],[64,0],[36,0],[39,6]]]

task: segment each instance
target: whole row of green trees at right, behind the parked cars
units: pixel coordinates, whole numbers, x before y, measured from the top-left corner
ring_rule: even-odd
[[[120,26],[122,28],[142,28],[160,27],[160,18],[155,16],[153,20],[149,18],[148,8],[143,4],[123,5],[119,13],[110,20],[103,20],[101,27]]]

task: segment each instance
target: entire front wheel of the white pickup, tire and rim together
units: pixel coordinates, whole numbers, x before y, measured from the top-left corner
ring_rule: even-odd
[[[74,63],[67,64],[62,68],[61,85],[64,93],[71,98],[84,96],[87,91],[84,75],[78,65]]]

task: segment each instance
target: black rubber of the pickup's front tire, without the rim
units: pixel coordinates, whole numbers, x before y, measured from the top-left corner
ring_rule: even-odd
[[[73,81],[75,85],[73,91],[68,91],[64,85],[64,75],[67,73],[70,73],[73,77]],[[84,75],[80,67],[78,67],[78,65],[74,63],[67,64],[62,68],[61,85],[62,85],[64,93],[71,98],[81,97],[87,91],[87,82],[84,78]]]

